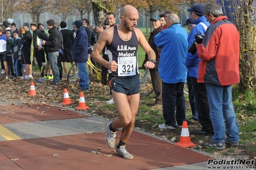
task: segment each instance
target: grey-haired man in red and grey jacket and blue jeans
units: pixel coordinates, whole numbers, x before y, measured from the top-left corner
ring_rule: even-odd
[[[210,26],[205,32],[203,43],[196,45],[201,58],[198,82],[205,83],[210,120],[214,128],[212,141],[205,143],[205,147],[225,150],[225,143],[239,145],[239,127],[232,104],[232,84],[240,81],[240,36],[234,24],[223,16],[221,6],[209,3],[203,7],[203,11]]]

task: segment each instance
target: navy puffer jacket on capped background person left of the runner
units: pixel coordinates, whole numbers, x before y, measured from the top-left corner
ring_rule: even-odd
[[[88,36],[85,27],[76,29],[76,38],[73,40],[73,57],[78,63],[86,63],[88,59]]]

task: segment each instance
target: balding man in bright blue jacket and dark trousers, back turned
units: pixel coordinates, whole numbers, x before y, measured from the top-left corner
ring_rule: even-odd
[[[187,31],[179,22],[178,15],[169,14],[166,19],[167,29],[158,33],[154,39],[157,48],[162,48],[158,72],[162,79],[162,105],[165,123],[158,125],[159,128],[175,129],[185,120],[183,87],[187,79],[187,67],[185,66]]]

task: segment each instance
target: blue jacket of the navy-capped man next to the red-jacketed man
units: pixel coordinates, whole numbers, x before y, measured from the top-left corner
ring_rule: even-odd
[[[187,37],[187,42],[189,43],[188,48],[191,46],[191,44],[194,42],[194,35],[200,34],[205,35],[205,26],[209,27],[210,23],[207,22],[205,16],[201,16],[198,19],[193,21],[196,26],[193,27],[191,32],[189,33],[189,36]],[[200,22],[203,22],[203,24],[200,24]],[[198,78],[198,65],[200,63],[200,58],[198,58],[198,52],[196,54],[192,55],[191,53],[187,52],[187,57],[185,60],[185,65],[187,66],[187,77],[194,77]]]

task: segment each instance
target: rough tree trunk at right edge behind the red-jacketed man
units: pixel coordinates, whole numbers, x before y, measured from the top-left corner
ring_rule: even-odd
[[[234,24],[240,34],[240,83],[239,89],[241,91],[253,89],[256,91],[256,29],[253,25],[251,16],[253,13],[253,0],[226,1],[230,3],[230,17],[233,18]],[[231,14],[234,13],[233,15]]]

